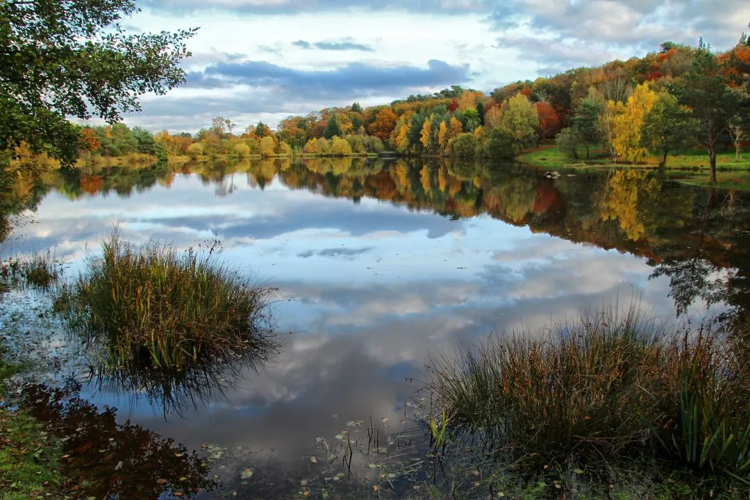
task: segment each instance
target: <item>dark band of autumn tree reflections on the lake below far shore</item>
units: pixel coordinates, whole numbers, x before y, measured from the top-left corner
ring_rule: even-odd
[[[728,289],[745,286],[740,278],[745,267],[750,268],[745,250],[750,249],[750,207],[746,206],[750,201],[745,196],[718,191],[709,196],[709,191],[664,183],[643,170],[579,172],[549,179],[517,164],[474,160],[256,158],[188,163],[177,169],[55,172],[48,183],[77,199],[110,191],[129,196],[157,182],[168,187],[178,176],[196,175],[216,186],[217,194],[231,196],[235,174],[245,175],[251,187],[261,189],[280,182],[293,190],[353,202],[368,197],[446,217],[489,214],[506,223],[529,226],[533,232],[644,256],[657,268],[657,275],[670,278],[673,297],[681,302],[715,297],[717,290],[725,298]],[[26,193],[30,188],[19,185],[17,189]],[[691,259],[705,260],[712,271],[706,274],[706,265],[690,264]],[[721,270],[733,273],[728,281],[713,279],[715,271]],[[745,301],[741,293],[731,296],[735,304]]]

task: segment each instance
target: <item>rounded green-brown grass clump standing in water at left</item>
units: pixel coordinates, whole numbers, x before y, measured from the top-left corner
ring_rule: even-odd
[[[220,262],[217,244],[178,253],[152,241],[135,246],[113,233],[89,272],[62,287],[56,308],[116,364],[181,368],[265,345],[269,298]]]

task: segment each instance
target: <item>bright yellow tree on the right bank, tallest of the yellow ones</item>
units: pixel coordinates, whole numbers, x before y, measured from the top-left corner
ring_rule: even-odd
[[[622,113],[613,118],[614,137],[612,145],[615,153],[622,159],[638,163],[649,155],[649,151],[640,143],[640,128],[643,120],[656,102],[656,92],[648,82],[635,88],[628,97]]]

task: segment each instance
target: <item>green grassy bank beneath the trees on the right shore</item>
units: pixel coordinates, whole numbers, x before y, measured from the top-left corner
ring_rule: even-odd
[[[544,145],[524,152],[518,157],[522,163],[535,166],[540,169],[603,169],[611,168],[612,158],[604,148],[592,148],[589,159],[580,155],[578,160],[570,160],[562,151],[554,145]],[[630,163],[617,163],[621,168],[656,169],[659,158],[649,157],[646,162],[637,165]],[[745,148],[740,152],[739,160],[735,154],[719,153],[716,155],[716,180],[713,187],[724,187],[727,189],[750,190],[750,150]],[[694,184],[699,186],[711,186],[709,182],[708,155],[705,151],[694,150],[685,154],[670,155],[667,157],[667,176],[674,181],[683,184]]]

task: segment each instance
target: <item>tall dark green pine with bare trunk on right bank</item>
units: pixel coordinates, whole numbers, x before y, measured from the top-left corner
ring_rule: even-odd
[[[728,83],[710,47],[700,40],[690,70],[682,82],[671,87],[677,101],[693,111],[696,139],[708,151],[711,182],[716,181],[716,143],[741,104],[739,94]]]

